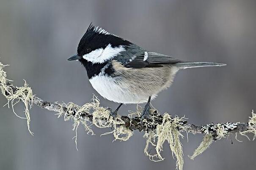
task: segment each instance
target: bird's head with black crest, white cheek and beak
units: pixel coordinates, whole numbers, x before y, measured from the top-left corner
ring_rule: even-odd
[[[77,47],[77,54],[68,60],[80,62],[104,63],[110,61],[131,43],[107,32],[98,26],[90,24]]]

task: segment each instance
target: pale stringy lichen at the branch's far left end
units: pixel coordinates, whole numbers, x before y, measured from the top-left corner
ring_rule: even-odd
[[[32,104],[33,104],[33,93],[30,87],[28,87],[28,84],[24,83],[24,86],[22,87],[15,87],[17,90],[13,90],[14,86],[12,85],[8,85],[7,81],[11,81],[8,80],[6,77],[6,72],[3,71],[3,68],[5,66],[8,65],[3,65],[0,62],[0,89],[1,92],[3,93],[3,95],[7,98],[8,102],[6,105],[8,105],[8,108],[11,108],[14,112],[14,114],[22,119],[27,119],[27,126],[28,126],[28,131],[31,135],[33,135],[33,132],[31,132],[30,130],[30,114],[29,114],[29,109],[31,108]],[[25,117],[21,117],[18,114],[16,114],[16,112],[14,111],[14,105],[19,103],[20,101],[23,102],[23,104],[25,105]]]

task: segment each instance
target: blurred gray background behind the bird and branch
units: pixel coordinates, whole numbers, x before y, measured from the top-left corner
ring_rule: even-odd
[[[255,0],[1,0],[0,61],[10,64],[8,78],[47,101],[84,104],[98,93],[85,69],[66,58],[76,53],[88,25],[94,24],[146,50],[187,61],[217,61],[220,68],[187,69],[177,74],[172,88],[152,102],[160,112],[189,118],[194,124],[246,122],[256,104]],[[99,96],[103,106],[118,104]],[[0,95],[0,106],[6,98]],[[17,105],[16,111],[23,112]],[[121,114],[136,105],[121,108]],[[163,170],[175,160],[165,143],[162,162],[143,153],[143,133],[129,141],[78,131],[78,151],[72,141],[72,122],[34,106],[31,130],[11,109],[0,107],[0,170]],[[190,160],[202,135],[182,140],[184,170],[232,170],[256,167],[256,141],[228,139],[214,142]],[[233,139],[234,144],[231,144]]]

